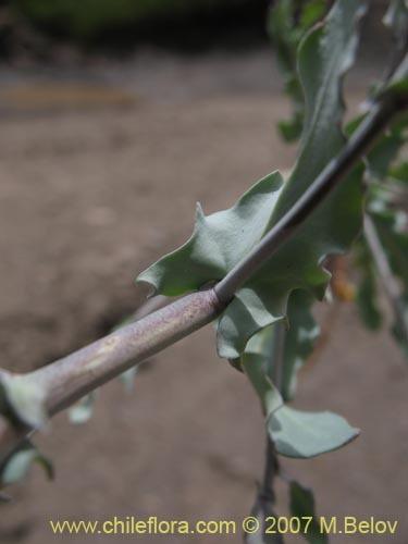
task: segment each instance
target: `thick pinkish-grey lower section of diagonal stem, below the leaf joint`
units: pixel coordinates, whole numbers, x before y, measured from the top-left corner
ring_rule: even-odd
[[[0,370],[0,384],[12,378],[44,393],[49,416],[67,408],[87,393],[210,323],[223,310],[213,289],[187,295],[108,336],[27,374]],[[5,380],[4,380],[5,381]],[[27,426],[18,429],[0,415],[0,457]]]

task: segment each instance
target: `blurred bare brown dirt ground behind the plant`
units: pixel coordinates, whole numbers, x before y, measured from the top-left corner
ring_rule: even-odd
[[[114,64],[83,67],[79,75],[3,71],[0,347],[7,368],[45,364],[104,334],[141,301],[136,274],[190,234],[196,200],[207,213],[222,209],[270,170],[292,164],[295,149],[275,134],[288,109],[269,54],[159,61],[149,54],[122,71]],[[126,541],[54,536],[49,528],[49,520],[113,516],[239,526],[261,474],[262,421],[245,379],[217,358],[213,336],[208,327],[156,357],[129,395],[118,382],[106,386],[87,425],[58,417],[38,436],[55,462],[55,481],[36,469],[12,490],[15,502],[0,507],[0,541]],[[332,542],[406,544],[408,375],[388,335],[369,334],[353,307],[341,307],[299,385],[297,406],[338,411],[362,433],[343,450],[285,461],[287,471],[314,487],[320,515],[398,521],[394,537]],[[280,485],[280,512],[285,503]],[[240,531],[138,540],[240,542]]]

